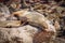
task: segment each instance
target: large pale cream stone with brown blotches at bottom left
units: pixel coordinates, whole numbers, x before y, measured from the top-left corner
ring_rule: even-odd
[[[0,28],[0,43],[32,43],[38,29],[29,25],[18,28]]]

